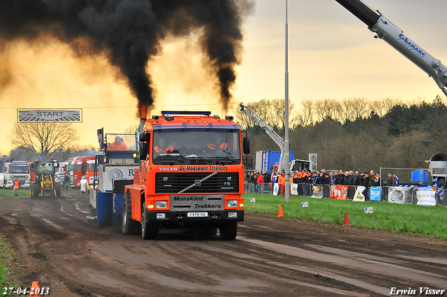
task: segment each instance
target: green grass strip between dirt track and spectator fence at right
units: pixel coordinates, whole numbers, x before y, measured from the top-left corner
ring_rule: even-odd
[[[330,223],[344,224],[344,212],[353,226],[385,231],[409,232],[425,234],[447,239],[447,208],[427,207],[413,204],[393,204],[388,202],[353,202],[329,198],[310,198],[295,196],[294,203],[281,201],[279,196],[266,194],[244,194],[245,210],[249,212],[265,212],[278,214],[279,204],[284,217],[297,217]],[[249,198],[256,198],[250,203]],[[280,202],[281,201],[281,202]],[[302,208],[301,203],[307,201],[309,207]],[[372,207],[372,213],[365,213],[366,207]]]

